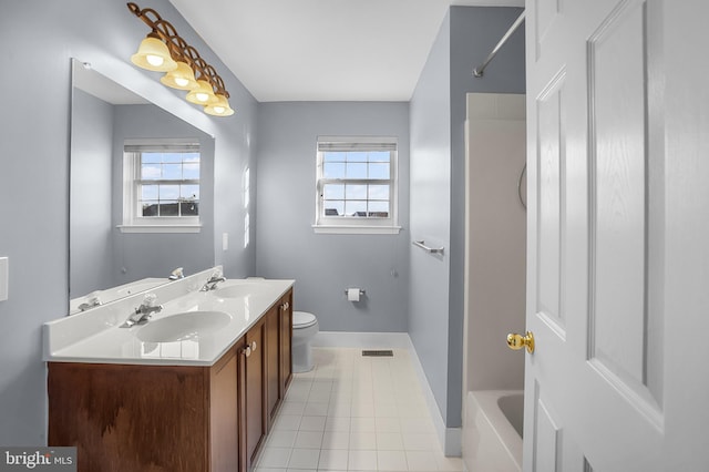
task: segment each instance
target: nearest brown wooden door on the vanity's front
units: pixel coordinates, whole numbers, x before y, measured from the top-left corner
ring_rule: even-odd
[[[212,367],[209,372],[212,471],[238,469],[237,400],[237,355],[236,349],[232,349]]]

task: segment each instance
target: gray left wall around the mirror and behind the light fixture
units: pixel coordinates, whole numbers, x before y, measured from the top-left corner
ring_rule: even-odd
[[[3,1],[0,58],[0,256],[10,261],[9,294],[0,301],[0,444],[45,442],[45,367],[41,327],[69,305],[69,136],[71,62],[75,57],[213,134],[215,141],[215,261],[230,277],[254,271],[253,246],[220,250],[222,233],[244,234],[243,186],[233,175],[253,166],[254,98],[204,44],[167,0],[141,2],[168,19],[213,64],[232,94],[234,116],[213,119],[163,86],[157,74],[130,65],[148,32],[125,2]],[[19,89],[18,89],[19,88]],[[172,111],[172,110],[171,110]]]

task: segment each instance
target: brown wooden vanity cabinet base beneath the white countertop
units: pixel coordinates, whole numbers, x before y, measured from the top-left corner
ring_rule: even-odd
[[[49,445],[88,472],[251,470],[291,378],[291,300],[213,366],[49,362]]]

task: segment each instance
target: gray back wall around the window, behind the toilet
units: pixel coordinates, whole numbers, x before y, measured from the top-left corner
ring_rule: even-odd
[[[294,306],[325,331],[405,331],[409,104],[264,103],[259,109],[257,275],[296,279]],[[399,235],[315,234],[318,135],[399,137]],[[343,290],[367,290],[347,301]]]

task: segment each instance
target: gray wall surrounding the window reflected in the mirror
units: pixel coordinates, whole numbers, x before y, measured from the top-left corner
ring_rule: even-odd
[[[123,222],[123,144],[126,138],[141,137],[199,141],[199,233],[121,233],[115,228]],[[214,266],[214,140],[208,134],[154,105],[115,106],[113,195],[114,286],[144,277],[167,277],[176,267],[189,275]],[[72,256],[72,266],[73,260]]]

